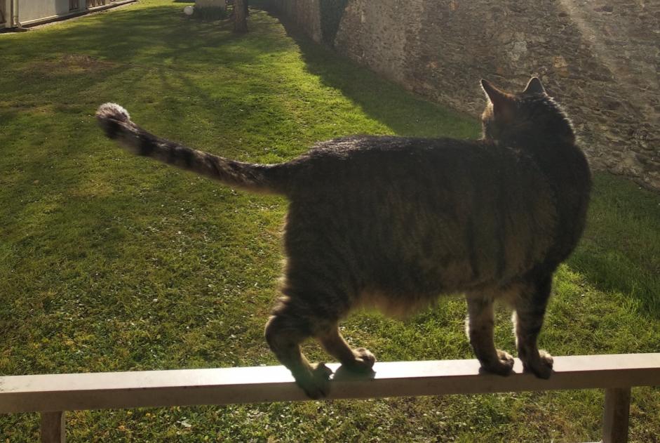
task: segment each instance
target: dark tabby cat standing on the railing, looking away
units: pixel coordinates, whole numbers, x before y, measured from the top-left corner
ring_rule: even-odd
[[[513,308],[525,371],[551,375],[537,348],[553,272],[584,229],[591,172],[570,120],[532,77],[522,93],[482,80],[480,140],[351,136],[281,164],[248,164],[156,137],[106,103],[106,135],[135,154],[250,192],[290,201],[281,298],[265,338],[311,398],[328,395],[332,371],[299,345],[321,342],[342,366],[372,371],[337,328],[353,309],[400,315],[438,296],[465,293],[466,333],[485,371],[506,376],[513,358],[493,342],[493,302]]]

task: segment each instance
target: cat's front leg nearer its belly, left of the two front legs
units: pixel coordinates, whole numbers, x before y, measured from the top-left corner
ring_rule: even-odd
[[[470,294],[467,296],[467,302],[465,329],[481,367],[485,371],[508,376],[513,371],[513,357],[495,348],[492,298]]]

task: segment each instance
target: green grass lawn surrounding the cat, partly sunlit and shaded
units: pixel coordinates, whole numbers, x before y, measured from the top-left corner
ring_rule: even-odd
[[[353,133],[478,136],[478,123],[379,79],[262,11],[251,32],[144,0],[0,35],[0,374],[277,364],[262,338],[286,202],[234,191],[109,142],[114,101],[147,129],[247,161]],[[474,86],[477,98],[478,85]],[[660,196],[597,174],[581,246],[560,268],[541,345],[555,355],[660,350]],[[465,303],[399,322],[358,312],[382,361],[473,358]],[[513,350],[509,313],[497,342]],[[327,359],[314,343],[311,359]],[[579,390],[79,411],[70,442],[600,439],[603,394]],[[660,395],[633,389],[631,441],[657,442]],[[0,416],[0,442],[39,416]]]

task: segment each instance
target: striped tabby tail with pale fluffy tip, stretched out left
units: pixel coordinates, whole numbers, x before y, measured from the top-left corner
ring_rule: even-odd
[[[253,192],[286,194],[286,164],[249,164],[194,150],[157,137],[130,120],[115,103],[100,105],[96,118],[108,138],[118,140],[130,152],[172,164],[222,183]]]

